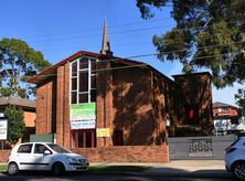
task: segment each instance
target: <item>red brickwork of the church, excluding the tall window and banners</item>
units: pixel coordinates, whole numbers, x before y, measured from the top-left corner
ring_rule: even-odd
[[[189,102],[199,103],[198,118],[209,123],[212,103],[210,79],[191,76],[196,83],[194,97],[177,82],[166,77],[149,65],[130,60],[108,62],[111,57],[79,52],[41,74],[50,72],[56,77],[33,78],[38,84],[36,134],[56,132],[56,141],[72,148],[70,120],[71,62],[83,56],[97,58],[96,72],[96,128],[109,128],[109,137],[96,137],[96,148],[74,149],[92,161],[169,161],[167,138],[182,120],[182,108]],[[137,66],[139,65],[140,66]],[[125,66],[135,65],[130,68]],[[189,77],[190,78],[190,77]],[[192,83],[192,82],[191,82]],[[181,87],[182,86],[182,87]],[[180,94],[181,93],[181,94]],[[183,97],[185,102],[180,102]],[[198,102],[201,100],[201,102]],[[177,104],[178,103],[178,104]],[[211,104],[212,105],[212,104]],[[212,106],[211,106],[212,107]],[[207,114],[207,117],[202,115]],[[206,116],[206,115],[205,115]],[[204,121],[204,119],[206,119]],[[167,120],[170,121],[167,130]],[[121,134],[121,145],[116,146],[116,131]],[[173,134],[172,134],[173,135]],[[84,139],[84,138],[83,138]]]

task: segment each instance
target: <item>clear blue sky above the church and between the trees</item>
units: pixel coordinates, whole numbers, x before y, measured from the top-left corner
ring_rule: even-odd
[[[152,35],[161,35],[175,24],[171,8],[153,11],[155,18],[143,20],[136,0],[2,0],[0,40],[21,39],[56,64],[81,50],[99,53],[106,18],[115,56],[135,56],[131,60],[150,64],[172,79],[171,75],[182,73],[180,63],[146,56],[157,52]],[[213,87],[213,103],[236,106],[234,94],[241,87]]]

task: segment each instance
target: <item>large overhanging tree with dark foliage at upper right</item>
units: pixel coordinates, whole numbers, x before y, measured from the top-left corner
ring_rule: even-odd
[[[185,73],[207,68],[216,87],[245,81],[245,0],[136,1],[143,19],[172,7],[177,25],[153,36],[159,60],[179,60]]]

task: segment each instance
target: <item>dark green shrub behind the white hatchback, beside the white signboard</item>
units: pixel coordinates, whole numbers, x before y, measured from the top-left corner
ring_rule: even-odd
[[[6,107],[4,115],[9,120],[9,141],[17,143],[24,136],[25,131],[23,110],[14,106],[8,106]]]

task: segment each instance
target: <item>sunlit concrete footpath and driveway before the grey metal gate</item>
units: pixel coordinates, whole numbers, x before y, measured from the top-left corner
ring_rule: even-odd
[[[167,163],[124,162],[124,163],[94,163],[104,166],[149,166],[150,169],[141,172],[150,175],[179,175],[179,177],[231,177],[225,170],[223,160],[175,160]]]

